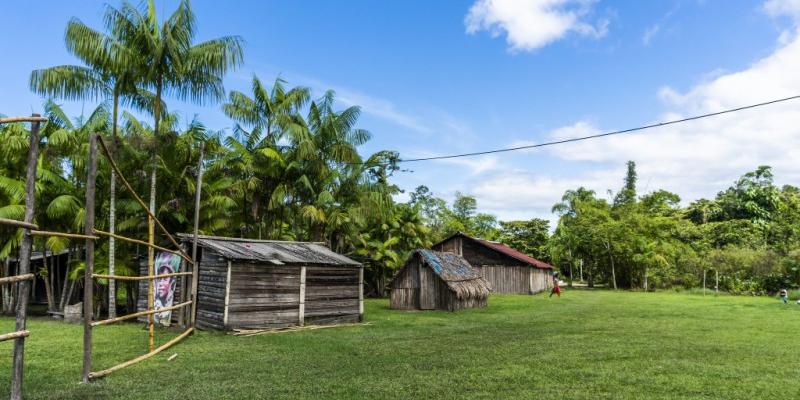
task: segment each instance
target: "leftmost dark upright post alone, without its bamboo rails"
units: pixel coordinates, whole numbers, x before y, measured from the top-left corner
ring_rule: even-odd
[[[33,114],[39,117],[39,114]],[[30,146],[28,147],[28,169],[25,174],[25,217],[26,224],[33,224],[34,206],[36,204],[36,166],[39,160],[39,125],[40,122],[31,122]],[[22,243],[19,249],[18,275],[30,273],[31,250],[33,247],[33,237],[30,234],[30,227],[22,229]],[[28,280],[21,281],[17,292],[17,320],[16,331],[24,331],[28,318],[28,296],[31,283]],[[22,378],[25,363],[25,336],[14,339],[14,356],[11,371],[11,399],[22,399]]]

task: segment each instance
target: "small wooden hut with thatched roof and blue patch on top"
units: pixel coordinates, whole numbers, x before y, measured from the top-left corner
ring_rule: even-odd
[[[489,285],[453,253],[417,250],[392,280],[390,307],[448,310],[486,307]]]

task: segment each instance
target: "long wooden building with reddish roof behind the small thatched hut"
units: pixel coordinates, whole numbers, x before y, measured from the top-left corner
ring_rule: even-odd
[[[432,246],[464,257],[494,293],[535,294],[553,286],[553,266],[500,242],[458,232]]]

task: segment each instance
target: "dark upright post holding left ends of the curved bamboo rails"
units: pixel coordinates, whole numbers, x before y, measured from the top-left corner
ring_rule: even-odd
[[[86,177],[86,222],[84,230],[92,235],[94,228],[94,196],[97,179],[97,134],[89,135],[89,162]],[[86,268],[83,277],[83,383],[89,383],[92,372],[92,314],[94,279],[94,239],[86,239]]]

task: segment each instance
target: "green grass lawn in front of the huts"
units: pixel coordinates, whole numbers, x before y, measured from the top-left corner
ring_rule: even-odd
[[[32,319],[28,399],[800,397],[800,307],[771,298],[566,291],[493,296],[458,313],[367,301],[370,326],[200,332],[89,385],[82,327]],[[13,321],[0,319],[0,332]],[[174,333],[162,333],[164,342]],[[141,325],[95,330],[95,370],[141,354]],[[177,353],[173,361],[167,358]],[[0,343],[0,398],[11,343]]]

